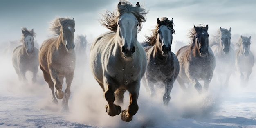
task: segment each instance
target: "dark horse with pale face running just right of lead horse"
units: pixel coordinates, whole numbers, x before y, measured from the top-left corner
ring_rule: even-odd
[[[171,97],[170,93],[173,88],[173,83],[176,80],[180,65],[176,55],[171,51],[173,41],[172,34],[173,18],[163,17],[161,20],[157,18],[157,26],[153,30],[152,36],[146,36],[146,43],[149,46],[144,47],[147,57],[147,69],[143,82],[146,89],[150,90],[151,97],[155,96],[155,85],[163,83],[165,91],[163,96],[164,105],[168,105]]]

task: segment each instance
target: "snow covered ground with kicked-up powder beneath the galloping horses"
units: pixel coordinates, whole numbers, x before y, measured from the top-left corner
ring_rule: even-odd
[[[18,81],[11,56],[0,57],[0,128],[256,128],[256,66],[243,88],[237,74],[231,76],[227,90],[213,79],[209,91],[201,95],[194,88],[184,93],[175,83],[168,107],[163,106],[162,90],[151,99],[141,85],[139,110],[127,123],[120,115],[107,115],[103,92],[88,68],[82,84],[78,76],[74,78],[70,112],[61,113],[61,101],[51,103],[41,70],[36,84],[24,84]],[[31,78],[29,72],[27,77]],[[124,97],[122,110],[128,106],[128,93]]]

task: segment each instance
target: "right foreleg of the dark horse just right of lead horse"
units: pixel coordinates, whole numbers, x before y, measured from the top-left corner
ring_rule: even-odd
[[[169,101],[171,100],[171,96],[170,96],[170,93],[171,93],[171,90],[173,88],[173,82],[174,82],[174,79],[168,79],[167,81],[165,81],[165,91],[164,91],[164,96],[163,96],[163,101],[164,101],[164,105],[167,106]]]

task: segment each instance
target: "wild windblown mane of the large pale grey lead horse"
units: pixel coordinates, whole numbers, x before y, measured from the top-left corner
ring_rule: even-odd
[[[117,20],[119,16],[124,13],[132,13],[139,21],[138,31],[142,29],[142,22],[146,21],[146,10],[139,6],[132,6],[132,4],[125,0],[119,0],[121,5],[118,5],[117,9],[111,13],[110,11],[105,11],[105,14],[101,14],[103,18],[100,18],[100,24],[110,29],[111,31],[117,32]]]

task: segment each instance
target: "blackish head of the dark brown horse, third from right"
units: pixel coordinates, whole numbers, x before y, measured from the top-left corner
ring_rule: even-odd
[[[206,56],[209,47],[209,34],[207,33],[208,24],[205,27],[196,27],[194,25],[194,29],[196,31],[195,41],[198,45],[199,52],[201,56]]]

